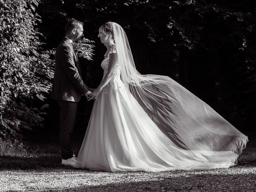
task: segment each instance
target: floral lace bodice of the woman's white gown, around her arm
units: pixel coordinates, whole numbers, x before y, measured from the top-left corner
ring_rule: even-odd
[[[105,58],[101,62],[101,67],[104,70],[103,78],[104,78],[104,76],[108,72],[109,55],[111,53],[117,53],[116,46],[112,46],[112,48],[110,48],[110,51],[109,51],[108,55],[106,56],[106,54],[105,54]],[[112,76],[110,82],[108,83],[108,85],[112,84],[112,83],[114,83],[114,82],[116,82],[118,80],[121,80],[121,78],[120,78],[120,65],[119,65],[119,62],[117,62],[117,64],[116,64],[116,68],[114,69],[113,76]]]

